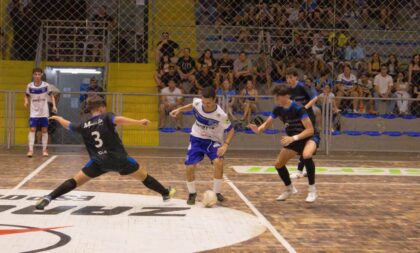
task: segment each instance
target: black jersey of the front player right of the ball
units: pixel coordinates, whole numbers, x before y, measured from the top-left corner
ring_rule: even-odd
[[[303,106],[298,105],[293,101],[289,108],[283,108],[280,106],[274,107],[271,112],[271,117],[273,119],[276,119],[277,117],[280,118],[286,127],[286,134],[288,136],[293,136],[300,134],[303,130],[305,130],[302,120],[309,116]]]

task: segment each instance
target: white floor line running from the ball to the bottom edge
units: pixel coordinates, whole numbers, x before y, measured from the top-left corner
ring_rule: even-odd
[[[260,222],[270,230],[273,236],[283,245],[283,247],[290,253],[296,253],[296,250],[289,244],[289,242],[274,228],[274,226],[262,215],[260,211],[245,197],[245,195],[236,187],[236,185],[230,181],[230,179],[224,175],[225,182],[238,194],[238,196],[245,202],[245,204],[251,209],[251,211],[257,216]]]

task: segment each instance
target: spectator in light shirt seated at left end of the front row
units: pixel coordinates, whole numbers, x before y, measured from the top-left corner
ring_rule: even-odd
[[[169,112],[182,106],[182,91],[176,87],[177,84],[175,80],[170,80],[168,87],[165,87],[161,90],[160,94],[160,108],[159,108],[159,128],[165,127],[166,117],[169,115]],[[182,128],[182,113],[178,114],[175,119],[176,128],[179,130]]]

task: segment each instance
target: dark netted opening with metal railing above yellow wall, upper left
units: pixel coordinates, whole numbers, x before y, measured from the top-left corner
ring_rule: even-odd
[[[146,9],[130,0],[1,1],[2,57],[144,62]]]

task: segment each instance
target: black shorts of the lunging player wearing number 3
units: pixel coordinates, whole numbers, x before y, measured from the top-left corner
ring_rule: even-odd
[[[86,174],[86,176],[94,178],[110,171],[118,172],[120,175],[129,175],[136,172],[139,167],[140,165],[136,160],[131,157],[127,157],[127,160],[107,162],[106,167],[90,160],[85,167],[83,167],[82,171]]]

